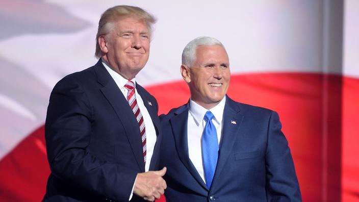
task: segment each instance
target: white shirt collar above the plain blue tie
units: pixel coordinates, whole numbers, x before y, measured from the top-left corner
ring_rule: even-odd
[[[204,114],[206,114],[207,111],[211,111],[212,114],[214,115],[214,120],[218,124],[221,124],[222,119],[223,119],[225,99],[226,99],[226,97],[224,96],[223,99],[221,100],[221,102],[218,103],[218,105],[216,105],[214,108],[208,110],[208,109],[198,105],[197,103],[195,103],[191,98],[189,111],[190,111],[191,115],[193,116],[196,124],[199,125],[202,122]]]

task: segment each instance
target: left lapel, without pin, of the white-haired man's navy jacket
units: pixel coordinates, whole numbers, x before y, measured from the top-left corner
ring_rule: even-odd
[[[176,150],[182,163],[186,166],[188,171],[192,174],[194,179],[206,190],[208,190],[206,184],[204,184],[201,176],[197,172],[197,169],[192,164],[188,154],[188,138],[187,138],[187,120],[188,120],[189,103],[187,105],[177,109],[175,116],[170,119],[172,126],[172,133]]]

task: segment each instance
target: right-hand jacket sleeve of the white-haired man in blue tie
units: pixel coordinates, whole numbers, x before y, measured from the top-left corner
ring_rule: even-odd
[[[271,113],[266,151],[268,201],[302,201],[288,141],[276,112]]]

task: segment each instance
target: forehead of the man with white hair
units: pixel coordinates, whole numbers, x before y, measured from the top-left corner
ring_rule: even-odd
[[[196,48],[196,62],[228,63],[228,55],[220,45],[200,45]]]

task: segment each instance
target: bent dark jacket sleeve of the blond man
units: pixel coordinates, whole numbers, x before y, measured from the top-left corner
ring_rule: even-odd
[[[65,77],[53,89],[45,122],[47,158],[62,181],[104,198],[128,201],[137,172],[91,155],[92,109],[84,89]]]

